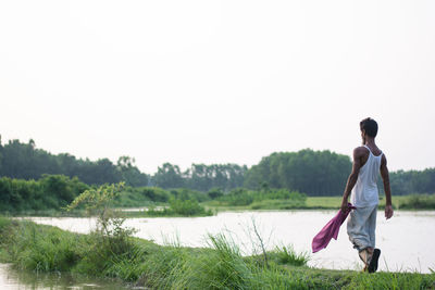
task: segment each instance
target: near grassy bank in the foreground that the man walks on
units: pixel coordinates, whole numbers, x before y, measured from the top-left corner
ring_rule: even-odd
[[[77,235],[0,218],[0,261],[16,268],[79,273],[151,289],[433,289],[435,275],[325,270],[291,248],[244,257],[224,236],[210,249],[158,245],[127,236]],[[266,261],[266,262],[265,262]]]

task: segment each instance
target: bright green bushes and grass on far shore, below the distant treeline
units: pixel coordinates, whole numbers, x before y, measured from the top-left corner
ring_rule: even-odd
[[[39,180],[0,178],[0,212],[25,216],[83,216],[83,207],[61,211],[86,190],[76,177],[44,175]],[[399,210],[435,210],[435,194],[394,196],[393,205]],[[224,192],[213,188],[209,192],[181,188],[164,190],[157,187],[129,187],[110,201],[109,207],[148,207],[148,211],[126,212],[128,217],[145,216],[206,216],[223,210],[337,210],[341,197],[307,197],[286,189],[260,190],[244,188]],[[381,198],[380,207],[385,206]]]

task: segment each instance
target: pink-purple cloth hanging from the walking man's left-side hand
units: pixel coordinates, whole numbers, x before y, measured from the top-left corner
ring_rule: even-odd
[[[333,217],[333,219],[331,219],[322,228],[322,230],[318,235],[315,235],[315,237],[313,238],[313,241],[311,243],[313,253],[319,252],[322,249],[325,249],[332,238],[337,240],[338,231],[339,231],[341,224],[346,220],[350,211],[353,209],[357,209],[351,203],[349,203],[348,205],[349,206],[348,206],[346,213],[343,213],[341,210],[338,211],[338,213]]]

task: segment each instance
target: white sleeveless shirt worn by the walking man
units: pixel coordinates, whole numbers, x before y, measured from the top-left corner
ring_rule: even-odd
[[[383,153],[375,156],[369,147],[364,147],[369,150],[369,159],[360,168],[357,184],[350,194],[350,202],[357,207],[373,206],[380,203],[377,177]]]

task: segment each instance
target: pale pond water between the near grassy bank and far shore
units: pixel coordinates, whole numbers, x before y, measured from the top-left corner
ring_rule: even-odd
[[[293,244],[298,252],[311,253],[311,240],[336,214],[335,211],[268,211],[226,212],[208,217],[129,218],[125,225],[138,231],[136,237],[159,244],[177,242],[182,245],[207,247],[207,235],[224,232],[245,254],[259,252],[252,220],[268,249]],[[58,226],[76,232],[89,232],[94,218],[32,218],[36,223]],[[386,220],[378,212],[376,247],[382,250],[380,270],[431,273],[435,269],[435,212],[395,212]],[[311,254],[310,266],[332,269],[361,269],[357,251],[348,240],[345,225],[338,240]]]

